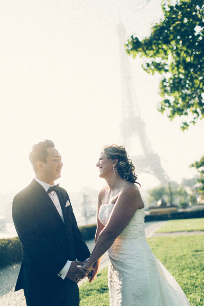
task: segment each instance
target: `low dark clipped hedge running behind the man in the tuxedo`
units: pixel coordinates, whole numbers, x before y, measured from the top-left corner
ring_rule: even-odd
[[[84,240],[94,239],[96,225],[79,226]],[[18,237],[0,239],[0,268],[22,260],[21,242]]]

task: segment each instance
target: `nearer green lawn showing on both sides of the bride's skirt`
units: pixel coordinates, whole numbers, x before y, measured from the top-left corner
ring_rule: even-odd
[[[176,278],[191,306],[204,306],[203,238],[203,235],[190,235],[147,239],[152,252]],[[100,271],[91,284],[85,282],[79,287],[80,306],[109,306],[107,270]]]

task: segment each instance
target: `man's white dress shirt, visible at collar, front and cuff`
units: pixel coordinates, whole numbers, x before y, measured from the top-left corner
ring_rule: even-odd
[[[54,186],[54,184],[49,185],[45,182],[40,181],[37,177],[34,177],[34,178],[35,178],[35,181],[37,181],[45,189],[46,192],[50,187]],[[65,223],[64,217],[63,217],[63,214],[62,214],[62,210],[61,210],[61,205],[60,205],[59,199],[57,197],[57,193],[53,190],[52,192],[48,193],[48,196],[53,201],[54,206],[57,208],[57,211],[58,211],[62,221]],[[69,267],[70,267],[71,263],[72,263],[72,261],[68,260],[67,263],[65,264],[64,268],[62,268],[62,270],[57,275],[61,276],[62,279],[65,279],[65,277],[67,275],[67,272],[69,271]]]

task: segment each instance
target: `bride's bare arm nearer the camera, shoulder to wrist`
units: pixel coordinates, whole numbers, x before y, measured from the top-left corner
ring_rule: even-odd
[[[118,235],[132,219],[138,208],[144,207],[138,188],[126,188],[118,196],[109,221],[100,232],[95,247],[83,270],[90,270],[93,264],[111,247]]]

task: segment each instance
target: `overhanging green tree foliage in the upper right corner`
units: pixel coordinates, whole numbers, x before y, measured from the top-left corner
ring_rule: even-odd
[[[132,35],[126,51],[148,58],[142,65],[148,73],[161,73],[158,110],[171,120],[184,116],[184,130],[204,117],[204,3],[166,0],[162,10],[164,19],[152,27],[150,37],[139,41]]]

